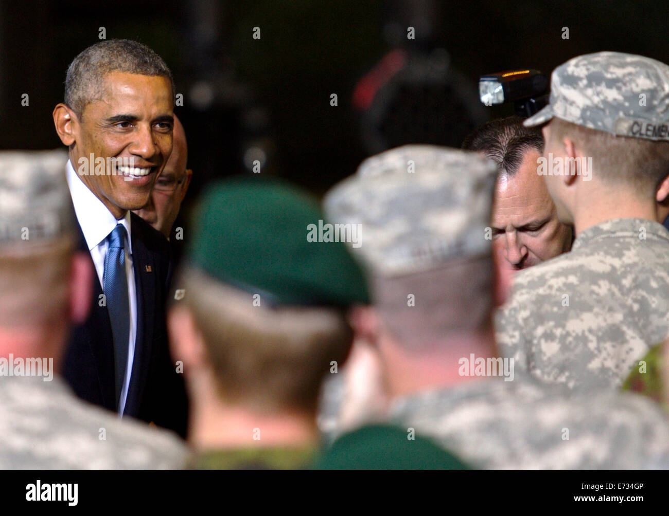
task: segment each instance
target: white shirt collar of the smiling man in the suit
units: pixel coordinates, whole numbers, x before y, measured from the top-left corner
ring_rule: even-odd
[[[107,207],[96,197],[96,195],[84,184],[82,178],[74,170],[72,162],[68,160],[68,186],[77,220],[84,233],[88,250],[92,251],[100,245],[112,232],[117,224],[122,224],[127,232],[128,239],[126,249],[132,255],[132,239],[130,238],[130,211],[125,217],[116,220]]]

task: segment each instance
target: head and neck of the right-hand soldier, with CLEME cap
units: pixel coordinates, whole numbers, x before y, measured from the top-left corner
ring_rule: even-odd
[[[543,126],[545,175],[558,216],[581,227],[618,217],[657,219],[669,192],[669,67],[617,52],[553,71]],[[605,213],[604,217],[602,214]],[[601,220],[603,218],[603,220]]]

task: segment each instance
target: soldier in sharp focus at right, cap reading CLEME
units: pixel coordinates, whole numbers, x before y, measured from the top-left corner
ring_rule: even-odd
[[[618,388],[669,335],[669,232],[654,220],[669,188],[669,66],[575,57],[553,72],[550,104],[524,123],[547,124],[537,172],[576,239],[514,278],[500,350],[546,382]],[[568,168],[570,158],[582,161]]]

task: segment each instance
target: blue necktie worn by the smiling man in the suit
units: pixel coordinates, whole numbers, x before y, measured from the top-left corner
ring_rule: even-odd
[[[107,237],[107,255],[104,258],[104,294],[112,323],[114,339],[114,371],[116,373],[116,402],[120,402],[126,367],[128,364],[128,338],[130,335],[130,308],[128,304],[128,279],[125,273],[125,237],[122,224]]]

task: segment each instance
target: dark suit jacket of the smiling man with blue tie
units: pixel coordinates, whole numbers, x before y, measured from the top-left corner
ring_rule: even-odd
[[[187,398],[181,374],[169,355],[165,301],[170,281],[167,239],[134,213],[130,214],[132,267],[137,295],[137,336],[124,416],[175,430],[185,437]],[[90,257],[81,228],[80,250]],[[93,261],[91,259],[91,265]],[[118,411],[114,390],[114,342],[106,306],[98,300],[102,285],[94,274],[91,311],[72,330],[63,373],[76,394],[93,404]]]

